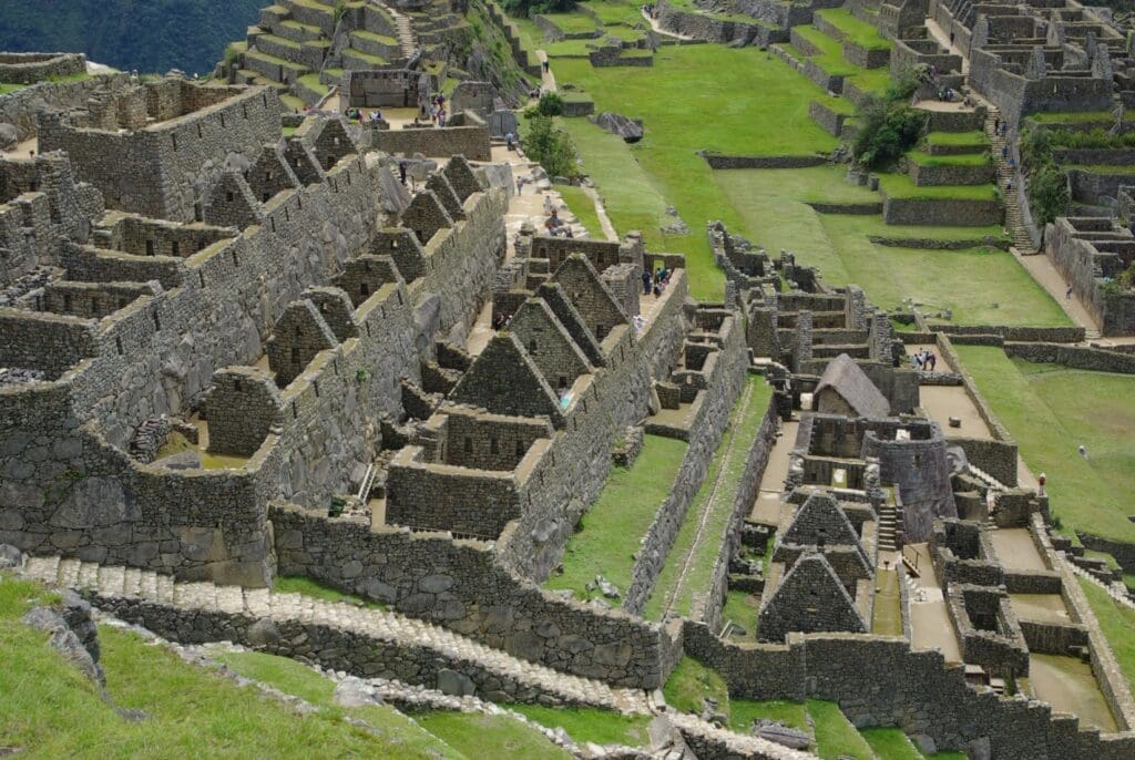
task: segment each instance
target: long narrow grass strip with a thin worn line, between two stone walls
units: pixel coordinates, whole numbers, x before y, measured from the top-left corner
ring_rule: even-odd
[[[747,406],[745,392],[750,394]],[[721,552],[721,537],[729,524],[745,461],[771,398],[772,387],[763,377],[748,379],[748,390],[742,390],[733,406],[709,471],[686,513],[654,593],[642,610],[647,619],[661,619],[667,607],[679,615],[689,615],[693,596],[709,588],[709,574]]]

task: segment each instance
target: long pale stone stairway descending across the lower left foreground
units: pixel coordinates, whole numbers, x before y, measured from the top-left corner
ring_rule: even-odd
[[[103,600],[102,603],[106,600],[134,600],[152,616],[166,608],[178,613],[245,616],[270,620],[280,627],[289,623],[299,623],[304,628],[327,626],[352,634],[360,648],[367,648],[369,640],[375,644],[381,642],[406,650],[426,649],[459,673],[485,673],[498,682],[512,682],[566,703],[622,712],[649,712],[645,692],[614,689],[599,681],[560,673],[491,649],[447,628],[386,610],[328,602],[297,593],[277,593],[268,589],[176,583],[168,575],[150,571],[100,566],[60,557],[31,557],[24,574],[49,585],[94,592]],[[203,631],[208,628],[194,625],[190,635],[199,637]]]

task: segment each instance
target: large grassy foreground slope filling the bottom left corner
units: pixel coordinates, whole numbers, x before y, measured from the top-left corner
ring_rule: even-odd
[[[127,723],[44,634],[18,623],[45,596],[34,583],[0,577],[0,746],[23,748],[22,755],[305,758],[319,748],[326,757],[428,758],[444,750],[429,736],[375,736],[336,712],[299,715],[134,633],[100,626],[110,698],[148,716]]]

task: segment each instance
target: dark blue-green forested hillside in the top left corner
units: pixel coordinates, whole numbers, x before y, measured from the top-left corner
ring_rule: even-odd
[[[264,0],[5,0],[0,49],[68,51],[123,70],[204,76]]]

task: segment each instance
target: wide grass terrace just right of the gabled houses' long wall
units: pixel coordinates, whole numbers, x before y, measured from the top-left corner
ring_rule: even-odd
[[[579,599],[599,596],[585,586],[602,574],[625,593],[634,567],[634,552],[670,496],[686,455],[686,441],[646,436],[642,451],[630,470],[612,467],[598,500],[575,526],[564,550],[563,574],[553,574],[545,586],[571,589]]]

